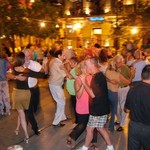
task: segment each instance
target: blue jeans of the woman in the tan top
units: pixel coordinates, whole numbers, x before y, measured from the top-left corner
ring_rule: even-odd
[[[114,131],[114,121],[115,121],[115,115],[117,114],[117,106],[118,106],[118,93],[108,91],[108,98],[110,102],[110,123],[109,123],[109,129],[110,131]]]

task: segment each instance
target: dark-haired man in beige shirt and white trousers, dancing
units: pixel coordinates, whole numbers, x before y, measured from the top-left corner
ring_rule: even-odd
[[[53,126],[62,127],[65,124],[62,124],[61,121],[67,119],[65,115],[65,95],[62,88],[66,77],[65,71],[61,69],[65,59],[62,50],[56,51],[55,57],[49,65],[50,76],[48,79],[50,92],[56,102],[56,113],[52,124]]]

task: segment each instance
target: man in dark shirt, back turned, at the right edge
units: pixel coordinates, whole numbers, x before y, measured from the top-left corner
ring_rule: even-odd
[[[130,112],[128,150],[150,150],[150,65],[143,68],[142,82],[129,90],[125,111]]]

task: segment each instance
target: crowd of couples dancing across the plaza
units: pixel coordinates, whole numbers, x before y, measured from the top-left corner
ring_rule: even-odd
[[[28,122],[34,133],[40,134],[35,118],[40,101],[38,78],[45,78],[56,102],[54,127],[65,126],[63,121],[68,119],[64,87],[70,95],[74,128],[66,137],[67,147],[72,148],[86,130],[85,143],[80,150],[89,147],[98,150],[95,145],[98,132],[106,142],[106,150],[114,150],[106,123],[110,132],[123,131],[128,124],[127,112],[130,110],[128,149],[150,149],[149,60],[140,49],[114,55],[110,48],[94,46],[96,51],[84,53],[83,57],[78,57],[73,50],[57,48],[47,51],[45,57],[38,60],[34,46],[29,44],[16,54],[12,64],[5,53],[0,53],[0,113],[10,115],[11,108],[17,110],[15,134],[19,134],[21,125],[26,143],[29,141]],[[16,83],[12,106],[9,79]]]

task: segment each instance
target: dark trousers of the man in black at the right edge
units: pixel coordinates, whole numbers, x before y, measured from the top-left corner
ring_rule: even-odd
[[[128,150],[150,150],[150,126],[130,121]]]

